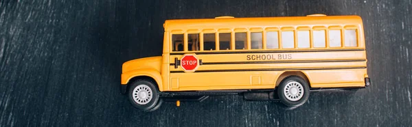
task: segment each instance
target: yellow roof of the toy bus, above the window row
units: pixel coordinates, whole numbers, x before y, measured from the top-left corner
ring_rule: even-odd
[[[313,25],[356,25],[362,27],[362,18],[356,15],[350,16],[325,16],[314,14],[308,16],[282,16],[282,17],[250,17],[233,18],[221,16],[216,18],[197,19],[172,19],[165,20],[165,31],[187,29],[234,29],[251,27],[296,27]],[[325,26],[326,27],[326,26]]]

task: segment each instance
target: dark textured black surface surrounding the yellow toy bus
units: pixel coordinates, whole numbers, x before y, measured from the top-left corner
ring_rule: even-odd
[[[0,126],[411,126],[411,4],[1,0]],[[161,55],[166,19],[315,13],[363,17],[371,87],[293,110],[222,96],[144,113],[119,93],[124,61]]]

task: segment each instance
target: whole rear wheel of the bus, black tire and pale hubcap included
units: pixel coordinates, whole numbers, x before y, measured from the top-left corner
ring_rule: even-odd
[[[299,76],[290,76],[277,87],[279,99],[288,107],[299,107],[308,101],[309,85]]]

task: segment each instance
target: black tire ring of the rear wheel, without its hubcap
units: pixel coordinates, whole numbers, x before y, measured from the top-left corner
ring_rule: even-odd
[[[284,95],[284,87],[286,86],[286,84],[290,83],[291,81],[297,81],[304,88],[304,95],[299,100],[296,100],[296,101],[288,100],[286,96]],[[285,104],[287,107],[300,107],[306,101],[308,101],[309,89],[310,87],[304,79],[301,79],[299,76],[290,76],[284,79],[277,87],[277,96],[279,96],[279,99],[281,100],[281,102]]]

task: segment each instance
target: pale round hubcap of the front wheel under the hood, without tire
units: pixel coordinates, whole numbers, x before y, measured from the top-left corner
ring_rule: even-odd
[[[152,89],[147,85],[137,85],[137,87],[133,89],[132,96],[137,104],[147,104],[152,100]]]

